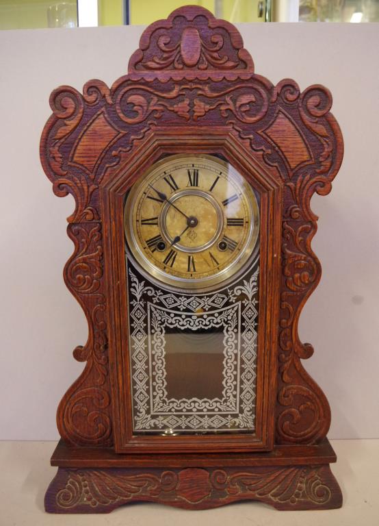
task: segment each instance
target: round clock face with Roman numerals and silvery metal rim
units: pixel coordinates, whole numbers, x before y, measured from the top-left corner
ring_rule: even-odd
[[[232,277],[259,234],[259,208],[246,179],[210,155],[171,155],[151,166],[125,204],[125,233],[140,266],[179,288]]]

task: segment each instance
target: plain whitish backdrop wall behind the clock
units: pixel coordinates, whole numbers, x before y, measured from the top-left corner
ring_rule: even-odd
[[[142,29],[0,32],[0,439],[57,439],[57,403],[83,368],[71,351],[86,342],[86,321],[62,280],[73,199],[53,195],[38,157],[49,94],[94,77],[112,84]],[[330,401],[329,436],[379,437],[379,25],[239,29],[257,73],[274,84],[291,77],[302,90],[324,84],[335,97],[345,158],[332,193],[313,198],[323,276],[300,336],[315,347],[306,368]]]

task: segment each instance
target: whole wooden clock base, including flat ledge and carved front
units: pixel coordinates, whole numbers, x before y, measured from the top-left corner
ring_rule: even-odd
[[[61,440],[44,505],[51,513],[109,513],[136,501],[205,510],[252,500],[277,510],[330,510],[342,505],[329,466],[336,460],[327,439],[267,453],[202,455],[118,455],[112,449],[70,449]]]

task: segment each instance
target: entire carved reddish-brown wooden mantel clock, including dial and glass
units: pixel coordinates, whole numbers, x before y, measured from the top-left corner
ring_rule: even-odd
[[[237,29],[196,6],[150,25],[112,88],[53,91],[40,154],[75,199],[64,278],[89,335],[47,511],[341,505],[298,338],[321,272],[310,201],[343,154],[331,103],[255,74]]]

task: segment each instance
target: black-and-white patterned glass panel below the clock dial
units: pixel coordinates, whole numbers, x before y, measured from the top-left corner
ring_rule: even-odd
[[[228,288],[177,293],[127,260],[135,434],[254,431],[258,258]]]

